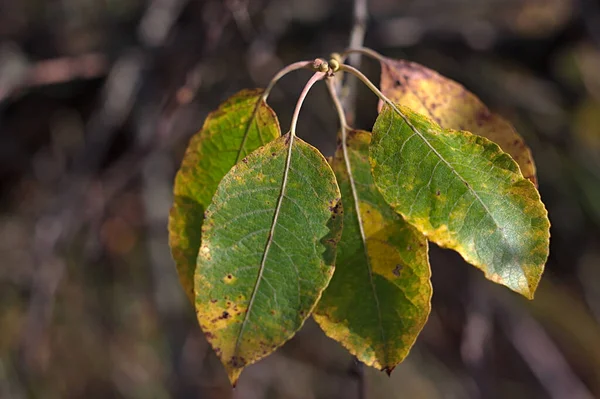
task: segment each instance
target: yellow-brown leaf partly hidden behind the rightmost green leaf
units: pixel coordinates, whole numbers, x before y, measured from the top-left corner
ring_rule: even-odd
[[[381,91],[393,102],[432,118],[446,129],[467,130],[498,144],[537,185],[531,151],[515,128],[477,96],[439,73],[405,60],[381,57]]]

